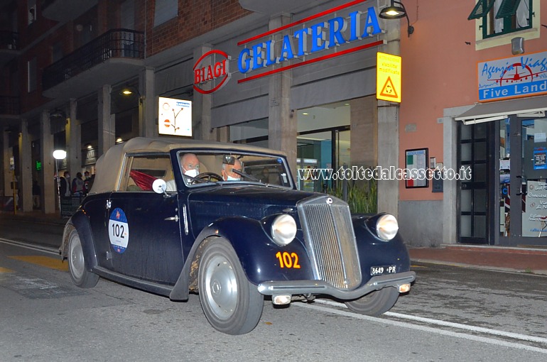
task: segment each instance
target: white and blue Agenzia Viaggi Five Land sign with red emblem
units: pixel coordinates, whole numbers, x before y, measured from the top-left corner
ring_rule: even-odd
[[[479,62],[479,101],[547,94],[547,52]]]

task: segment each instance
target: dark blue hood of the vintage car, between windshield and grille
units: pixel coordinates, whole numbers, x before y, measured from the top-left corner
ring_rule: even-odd
[[[259,220],[289,207],[292,209],[290,213],[296,217],[296,203],[315,194],[278,187],[224,185],[215,190],[207,188],[191,192],[188,209],[194,230],[200,230],[221,217],[244,216]]]

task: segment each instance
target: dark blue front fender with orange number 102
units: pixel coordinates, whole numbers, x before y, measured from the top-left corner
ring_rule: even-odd
[[[298,238],[281,247],[273,243],[261,221],[247,217],[227,217],[206,226],[197,236],[170,293],[172,300],[188,300],[190,272],[197,270],[197,265],[192,264],[199,256],[202,243],[216,237],[224,238],[232,244],[247,279],[255,285],[268,280],[314,279],[308,253]]]

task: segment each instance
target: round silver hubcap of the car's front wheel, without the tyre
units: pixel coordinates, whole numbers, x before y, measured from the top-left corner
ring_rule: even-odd
[[[237,278],[232,264],[224,256],[214,256],[205,270],[205,297],[220,319],[228,319],[237,305]]]

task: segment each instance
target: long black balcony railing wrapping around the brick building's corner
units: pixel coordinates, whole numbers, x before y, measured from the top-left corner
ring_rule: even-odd
[[[129,29],[112,29],[95,38],[63,59],[46,67],[43,89],[50,89],[110,58],[144,58],[144,33]]]

